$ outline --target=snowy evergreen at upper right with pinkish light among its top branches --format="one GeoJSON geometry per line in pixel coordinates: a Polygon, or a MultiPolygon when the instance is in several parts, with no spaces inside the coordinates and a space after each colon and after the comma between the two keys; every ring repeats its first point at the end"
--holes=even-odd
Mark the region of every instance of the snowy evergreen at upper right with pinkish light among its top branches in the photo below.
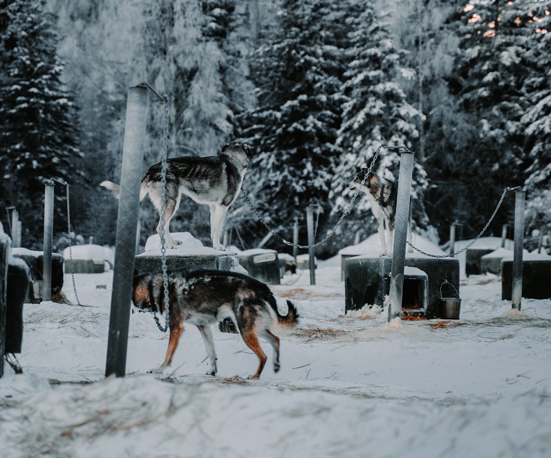
{"type": "MultiPolygon", "coordinates": [[[[456,198],[468,207],[473,235],[485,225],[503,188],[523,184],[530,166],[525,155],[528,120],[523,115],[536,101],[525,88],[534,77],[543,77],[541,63],[531,55],[537,35],[534,16],[545,17],[548,3],[465,2],[456,18],[463,52],[450,86],[477,133],[462,154],[465,166],[458,173],[464,184],[456,198]]],[[[512,199],[504,202],[494,220],[496,229],[507,221],[512,204],[512,199]]]]}

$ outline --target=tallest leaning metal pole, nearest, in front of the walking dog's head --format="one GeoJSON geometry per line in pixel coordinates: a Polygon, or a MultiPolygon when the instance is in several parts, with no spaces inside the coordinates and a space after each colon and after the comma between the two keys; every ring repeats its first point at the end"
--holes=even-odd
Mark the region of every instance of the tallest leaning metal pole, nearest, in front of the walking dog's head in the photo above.
{"type": "Polygon", "coordinates": [[[128,328],[146,119],[147,88],[145,86],[129,88],[122,146],[122,171],[105,376],[115,374],[122,377],[127,365],[128,328]]]}

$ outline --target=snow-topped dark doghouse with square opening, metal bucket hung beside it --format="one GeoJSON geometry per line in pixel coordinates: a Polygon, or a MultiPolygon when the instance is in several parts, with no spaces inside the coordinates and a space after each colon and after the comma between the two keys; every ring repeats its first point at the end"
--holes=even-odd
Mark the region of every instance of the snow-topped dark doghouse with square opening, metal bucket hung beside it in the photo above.
{"type": "MultiPolygon", "coordinates": [[[[380,256],[377,234],[359,245],[339,251],[344,256],[345,310],[382,307],[390,291],[392,258],[380,256]],[[352,256],[352,255],[356,256],[352,256]],[[359,255],[359,256],[358,256],[359,255]]],[[[445,255],[438,246],[415,236],[413,245],[437,256],[445,255]]],[[[402,309],[412,315],[439,318],[440,287],[447,280],[459,291],[459,260],[431,258],[416,251],[407,253],[404,267],[402,309]]]]}

